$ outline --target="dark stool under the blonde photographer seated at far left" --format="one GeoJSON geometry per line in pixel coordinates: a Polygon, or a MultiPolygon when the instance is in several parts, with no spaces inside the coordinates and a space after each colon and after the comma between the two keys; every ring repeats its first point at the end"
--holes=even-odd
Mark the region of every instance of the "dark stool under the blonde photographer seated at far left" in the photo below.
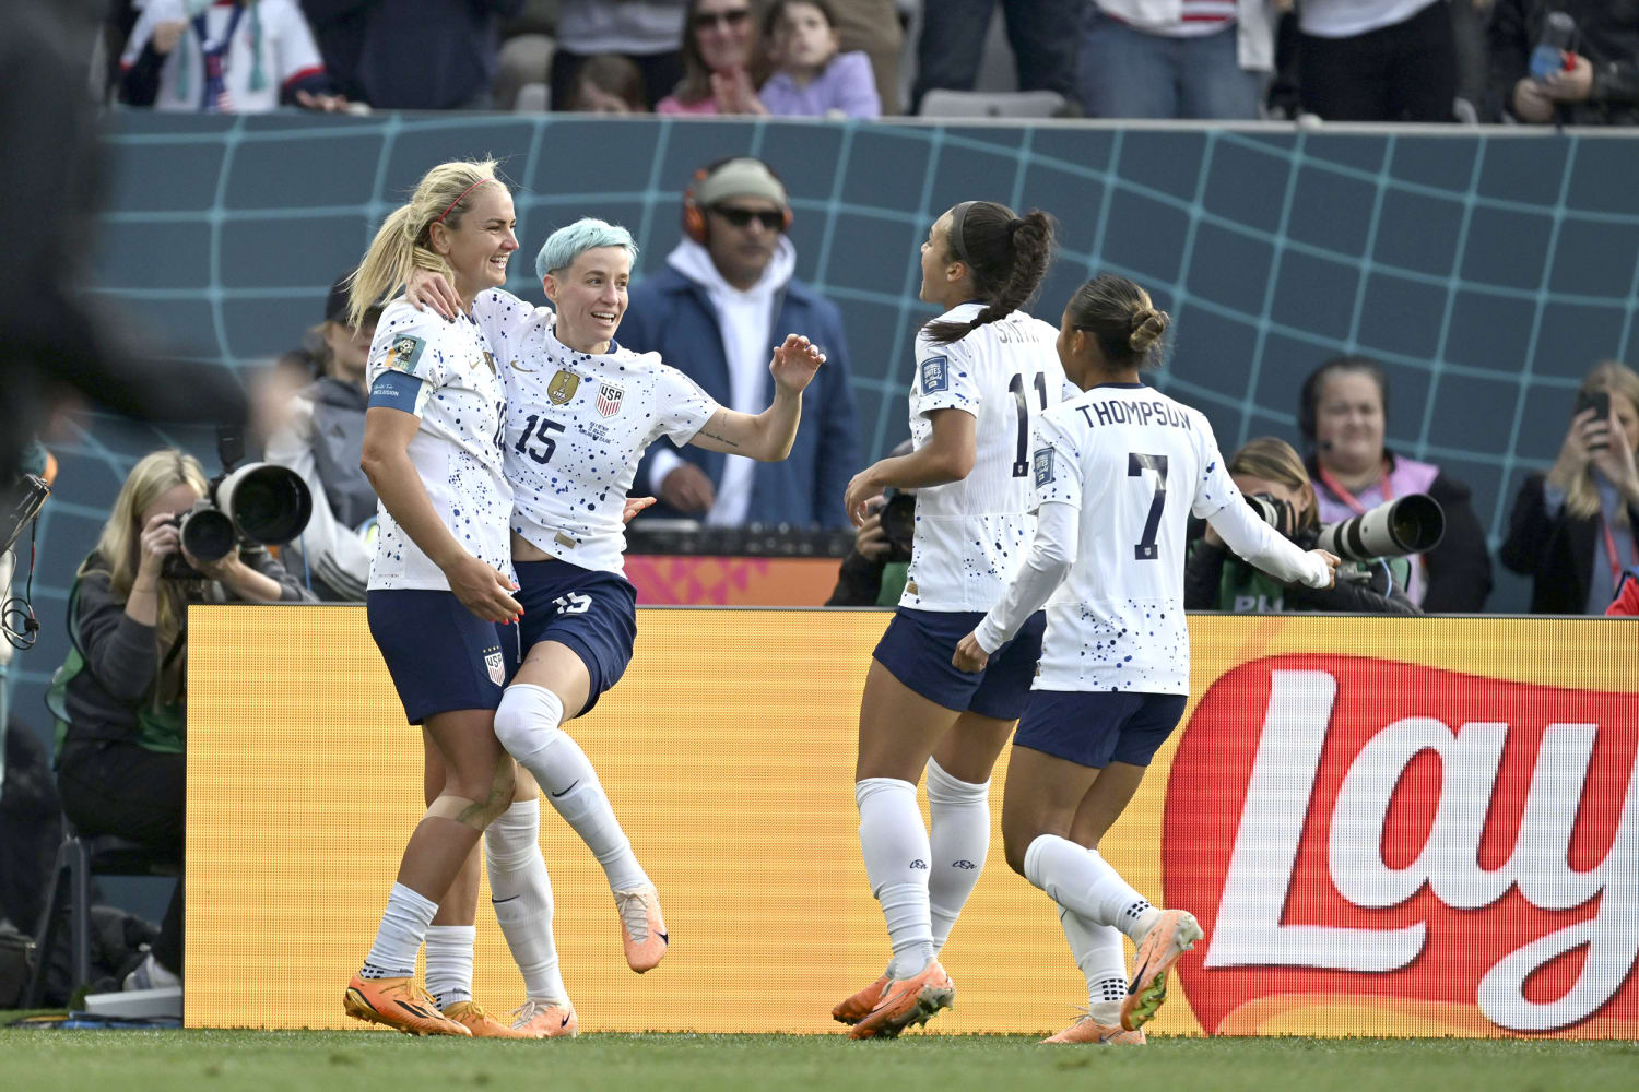
{"type": "Polygon", "coordinates": [[[57,940],[57,922],[64,902],[69,909],[69,928],[74,951],[74,982],[69,994],[79,992],[92,977],[92,876],[182,876],[182,856],[154,850],[115,835],[82,838],[67,819],[62,820],[64,838],[57,846],[57,863],[51,873],[46,894],[46,910],[41,914],[34,971],[28,981],[25,1009],[38,1009],[46,989],[46,972],[57,940]]]}

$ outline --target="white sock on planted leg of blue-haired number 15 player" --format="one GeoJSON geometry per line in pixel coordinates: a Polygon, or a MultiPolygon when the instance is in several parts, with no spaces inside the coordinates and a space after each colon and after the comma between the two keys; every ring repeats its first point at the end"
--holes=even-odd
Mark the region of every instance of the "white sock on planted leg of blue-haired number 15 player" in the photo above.
{"type": "Polygon", "coordinates": [[[524,995],[569,1002],[552,940],[552,881],[541,856],[541,801],[513,801],[484,832],[484,866],[490,902],[513,961],[523,972],[524,995]]]}

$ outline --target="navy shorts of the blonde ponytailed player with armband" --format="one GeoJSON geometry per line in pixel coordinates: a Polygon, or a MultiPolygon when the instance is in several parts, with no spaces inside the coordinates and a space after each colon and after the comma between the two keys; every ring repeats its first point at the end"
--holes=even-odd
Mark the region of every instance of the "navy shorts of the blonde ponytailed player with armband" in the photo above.
{"type": "Polygon", "coordinates": [[[506,658],[493,622],[452,591],[370,589],[364,596],[370,637],[382,650],[410,724],[454,709],[495,709],[506,684],[506,658]]]}

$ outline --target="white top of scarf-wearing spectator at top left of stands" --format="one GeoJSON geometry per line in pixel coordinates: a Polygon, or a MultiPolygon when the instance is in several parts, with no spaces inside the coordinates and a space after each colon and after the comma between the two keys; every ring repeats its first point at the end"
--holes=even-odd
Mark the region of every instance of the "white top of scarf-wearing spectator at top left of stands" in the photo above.
{"type": "Polygon", "coordinates": [[[288,85],[325,70],[313,33],[295,0],[257,0],[239,7],[218,0],[198,20],[188,20],[184,0],[151,0],[126,39],[120,64],[129,69],[143,56],[159,23],[187,23],[179,43],[159,70],[156,110],[262,113],[279,108],[288,85]],[[205,26],[205,36],[198,25],[205,26]],[[226,38],[226,49],[221,51],[226,38]],[[223,97],[207,98],[207,54],[221,67],[223,97]],[[257,79],[259,77],[259,79],[257,79]],[[259,87],[252,87],[259,83],[259,87]]]}

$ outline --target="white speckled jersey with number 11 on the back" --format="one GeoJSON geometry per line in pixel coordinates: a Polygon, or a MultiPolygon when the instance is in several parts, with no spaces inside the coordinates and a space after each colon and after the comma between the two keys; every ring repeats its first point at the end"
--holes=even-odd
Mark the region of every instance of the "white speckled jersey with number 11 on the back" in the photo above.
{"type": "MultiPolygon", "coordinates": [[[[970,321],[964,303],[939,316],[970,321]]],[[[974,470],[960,481],[916,491],[916,535],[901,607],[985,611],[1036,530],[1031,509],[1031,422],[1064,398],[1059,331],[1023,311],[939,345],[916,337],[911,440],[933,439],[934,409],[977,417],[974,470]]]]}

